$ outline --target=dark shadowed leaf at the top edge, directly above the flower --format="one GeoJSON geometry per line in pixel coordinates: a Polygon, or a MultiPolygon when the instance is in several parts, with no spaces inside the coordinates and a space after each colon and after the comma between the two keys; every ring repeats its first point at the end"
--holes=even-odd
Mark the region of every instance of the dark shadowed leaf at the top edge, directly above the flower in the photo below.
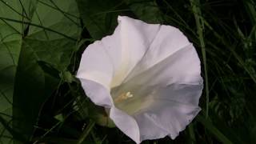
{"type": "Polygon", "coordinates": [[[78,9],[86,29],[94,39],[113,33],[118,15],[130,15],[130,9],[121,0],[77,0],[78,9]]]}

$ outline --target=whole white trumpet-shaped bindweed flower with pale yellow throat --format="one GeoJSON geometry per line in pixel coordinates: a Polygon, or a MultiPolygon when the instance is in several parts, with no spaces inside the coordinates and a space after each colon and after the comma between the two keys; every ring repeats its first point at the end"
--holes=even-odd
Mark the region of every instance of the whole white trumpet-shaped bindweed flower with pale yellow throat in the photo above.
{"type": "Polygon", "coordinates": [[[82,54],[77,78],[134,142],[176,138],[201,110],[200,60],[173,26],[118,17],[114,34],[82,54]]]}

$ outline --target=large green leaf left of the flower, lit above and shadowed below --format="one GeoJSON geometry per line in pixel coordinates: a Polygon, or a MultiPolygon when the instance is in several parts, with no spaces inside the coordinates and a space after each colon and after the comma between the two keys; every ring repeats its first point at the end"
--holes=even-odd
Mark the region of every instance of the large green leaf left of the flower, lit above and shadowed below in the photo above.
{"type": "Polygon", "coordinates": [[[14,89],[14,116],[18,118],[15,126],[27,138],[33,134],[43,103],[60,81],[47,74],[38,62],[46,62],[58,71],[66,70],[75,49],[72,38],[80,34],[78,22],[74,0],[38,1],[31,20],[34,25],[23,39],[14,89]]]}

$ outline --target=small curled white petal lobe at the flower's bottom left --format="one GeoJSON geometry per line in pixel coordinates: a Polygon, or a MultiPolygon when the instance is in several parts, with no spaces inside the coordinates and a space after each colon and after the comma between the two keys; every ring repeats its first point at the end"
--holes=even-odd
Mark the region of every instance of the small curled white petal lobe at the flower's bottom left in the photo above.
{"type": "Polygon", "coordinates": [[[138,124],[133,117],[113,106],[110,109],[110,118],[114,121],[114,124],[118,126],[118,128],[122,130],[124,134],[134,140],[134,142],[141,142],[138,124]]]}

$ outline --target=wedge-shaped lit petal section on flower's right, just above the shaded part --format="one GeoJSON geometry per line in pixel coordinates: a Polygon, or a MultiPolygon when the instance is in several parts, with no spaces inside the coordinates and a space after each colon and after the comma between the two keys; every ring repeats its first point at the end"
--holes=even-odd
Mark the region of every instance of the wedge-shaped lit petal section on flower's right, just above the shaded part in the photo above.
{"type": "Polygon", "coordinates": [[[170,84],[191,84],[202,83],[201,68],[198,54],[194,46],[186,46],[161,62],[158,62],[142,74],[130,78],[122,89],[132,90],[140,86],[142,90],[153,86],[155,88],[165,87],[170,84]]]}

